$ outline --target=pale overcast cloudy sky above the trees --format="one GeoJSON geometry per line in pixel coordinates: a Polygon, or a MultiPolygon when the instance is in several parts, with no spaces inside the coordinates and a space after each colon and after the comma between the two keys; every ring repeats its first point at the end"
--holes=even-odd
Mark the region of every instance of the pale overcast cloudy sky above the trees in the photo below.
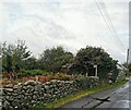
{"type": "Polygon", "coordinates": [[[129,40],[128,0],[98,2],[118,36],[110,33],[95,0],[76,1],[1,2],[0,40],[15,42],[23,39],[36,57],[52,46],[61,45],[73,53],[87,45],[97,46],[124,62],[129,40]]]}

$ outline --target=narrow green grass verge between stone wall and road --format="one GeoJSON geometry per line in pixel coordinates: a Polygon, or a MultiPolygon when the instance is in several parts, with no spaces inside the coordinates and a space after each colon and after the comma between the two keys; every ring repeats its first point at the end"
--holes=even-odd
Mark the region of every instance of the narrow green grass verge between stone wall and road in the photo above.
{"type": "Polygon", "coordinates": [[[94,94],[94,93],[97,93],[97,91],[100,91],[100,90],[104,90],[104,89],[107,89],[107,88],[123,85],[127,82],[128,81],[124,80],[122,82],[115,83],[114,85],[100,85],[100,86],[97,86],[96,88],[92,88],[92,89],[88,89],[88,90],[81,90],[81,91],[78,91],[78,93],[75,93],[73,95],[68,95],[66,97],[62,97],[62,98],[57,99],[57,100],[51,101],[51,102],[38,103],[35,107],[33,107],[32,110],[45,110],[46,108],[48,108],[49,110],[52,110],[55,108],[59,108],[59,107],[61,107],[61,106],[63,106],[63,105],[66,105],[68,102],[80,99],[80,98],[85,97],[87,95],[91,95],[91,94],[94,94]]]}

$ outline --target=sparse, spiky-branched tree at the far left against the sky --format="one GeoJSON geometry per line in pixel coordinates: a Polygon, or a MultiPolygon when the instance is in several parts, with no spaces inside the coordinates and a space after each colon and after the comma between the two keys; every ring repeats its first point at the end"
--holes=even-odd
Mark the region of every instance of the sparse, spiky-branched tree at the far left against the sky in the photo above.
{"type": "Polygon", "coordinates": [[[31,51],[27,50],[25,41],[17,40],[16,45],[2,44],[2,68],[5,72],[17,72],[24,66],[24,60],[27,60],[31,51]]]}

